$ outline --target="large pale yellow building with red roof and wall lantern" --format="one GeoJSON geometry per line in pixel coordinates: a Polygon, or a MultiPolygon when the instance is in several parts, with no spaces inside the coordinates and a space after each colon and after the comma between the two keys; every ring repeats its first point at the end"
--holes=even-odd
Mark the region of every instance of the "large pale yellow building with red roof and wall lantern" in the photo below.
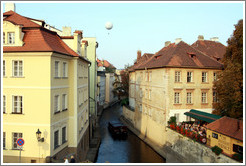
{"type": "MultiPolygon", "coordinates": [[[[71,154],[81,161],[89,148],[90,62],[44,25],[3,14],[3,162],[19,162],[18,138],[25,163],[62,162],[71,154]]],[[[75,31],[74,40],[81,38],[75,31]]]]}

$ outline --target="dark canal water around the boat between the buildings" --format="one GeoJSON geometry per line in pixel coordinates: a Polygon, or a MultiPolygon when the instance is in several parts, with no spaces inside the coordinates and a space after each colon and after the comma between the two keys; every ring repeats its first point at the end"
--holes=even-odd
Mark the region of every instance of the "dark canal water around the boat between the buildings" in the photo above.
{"type": "Polygon", "coordinates": [[[120,121],[122,106],[115,104],[103,111],[100,119],[101,145],[97,163],[164,163],[165,159],[129,131],[126,140],[114,140],[107,125],[109,121],[120,121]]]}

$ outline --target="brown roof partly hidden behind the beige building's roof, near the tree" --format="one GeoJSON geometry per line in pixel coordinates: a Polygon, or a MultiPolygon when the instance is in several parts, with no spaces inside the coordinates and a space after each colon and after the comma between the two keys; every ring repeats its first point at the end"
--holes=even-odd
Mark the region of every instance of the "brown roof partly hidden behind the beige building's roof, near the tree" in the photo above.
{"type": "Polygon", "coordinates": [[[221,61],[226,53],[226,46],[211,40],[197,40],[191,46],[219,61],[221,61]]]}

